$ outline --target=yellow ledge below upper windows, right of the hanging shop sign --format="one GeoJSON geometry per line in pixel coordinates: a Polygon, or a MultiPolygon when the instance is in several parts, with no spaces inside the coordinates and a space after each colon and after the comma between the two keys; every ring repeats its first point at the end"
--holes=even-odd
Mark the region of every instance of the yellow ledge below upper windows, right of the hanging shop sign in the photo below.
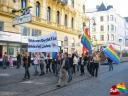
{"type": "Polygon", "coordinates": [[[76,35],[80,34],[80,30],[75,30],[75,29],[66,27],[64,25],[57,24],[55,22],[44,20],[44,19],[36,17],[36,16],[32,17],[32,22],[31,23],[36,24],[38,26],[43,26],[43,27],[46,27],[46,28],[51,28],[51,29],[54,29],[54,30],[66,32],[66,33],[69,33],[69,34],[76,34],[76,35]]]}

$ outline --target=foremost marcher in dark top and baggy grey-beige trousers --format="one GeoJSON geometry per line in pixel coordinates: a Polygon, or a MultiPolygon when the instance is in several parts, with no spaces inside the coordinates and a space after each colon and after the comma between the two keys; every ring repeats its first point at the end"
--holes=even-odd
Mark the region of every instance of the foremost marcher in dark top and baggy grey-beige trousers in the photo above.
{"type": "Polygon", "coordinates": [[[64,54],[64,59],[63,59],[63,62],[62,62],[61,68],[60,68],[60,74],[59,74],[59,80],[58,80],[57,87],[61,87],[61,86],[67,85],[68,63],[69,63],[68,53],[65,53],[64,54]]]}

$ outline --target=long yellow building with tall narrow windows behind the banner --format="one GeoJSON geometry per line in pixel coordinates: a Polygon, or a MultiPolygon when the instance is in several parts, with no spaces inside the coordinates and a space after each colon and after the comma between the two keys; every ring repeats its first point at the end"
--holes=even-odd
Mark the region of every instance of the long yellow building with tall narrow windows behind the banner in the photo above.
{"type": "Polygon", "coordinates": [[[80,52],[85,20],[85,0],[0,0],[0,58],[4,52],[15,57],[17,51],[27,49],[28,37],[50,32],[57,33],[60,50],[80,52]],[[14,22],[27,12],[31,22],[14,22]]]}

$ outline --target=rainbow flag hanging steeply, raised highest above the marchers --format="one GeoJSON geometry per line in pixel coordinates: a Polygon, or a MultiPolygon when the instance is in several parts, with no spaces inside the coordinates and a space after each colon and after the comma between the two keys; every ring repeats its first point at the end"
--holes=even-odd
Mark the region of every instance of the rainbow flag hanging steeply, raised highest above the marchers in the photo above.
{"type": "Polygon", "coordinates": [[[81,43],[89,51],[89,54],[92,54],[91,39],[89,36],[88,28],[84,28],[84,33],[81,37],[81,43]]]}

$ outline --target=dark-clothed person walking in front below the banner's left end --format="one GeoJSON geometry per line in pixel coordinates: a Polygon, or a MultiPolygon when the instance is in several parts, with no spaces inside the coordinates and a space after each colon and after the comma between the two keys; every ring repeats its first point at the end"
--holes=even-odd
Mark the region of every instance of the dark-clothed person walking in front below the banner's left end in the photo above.
{"type": "Polygon", "coordinates": [[[27,53],[23,56],[23,67],[25,69],[25,74],[23,80],[30,79],[29,67],[31,63],[31,58],[28,56],[27,53]]]}

